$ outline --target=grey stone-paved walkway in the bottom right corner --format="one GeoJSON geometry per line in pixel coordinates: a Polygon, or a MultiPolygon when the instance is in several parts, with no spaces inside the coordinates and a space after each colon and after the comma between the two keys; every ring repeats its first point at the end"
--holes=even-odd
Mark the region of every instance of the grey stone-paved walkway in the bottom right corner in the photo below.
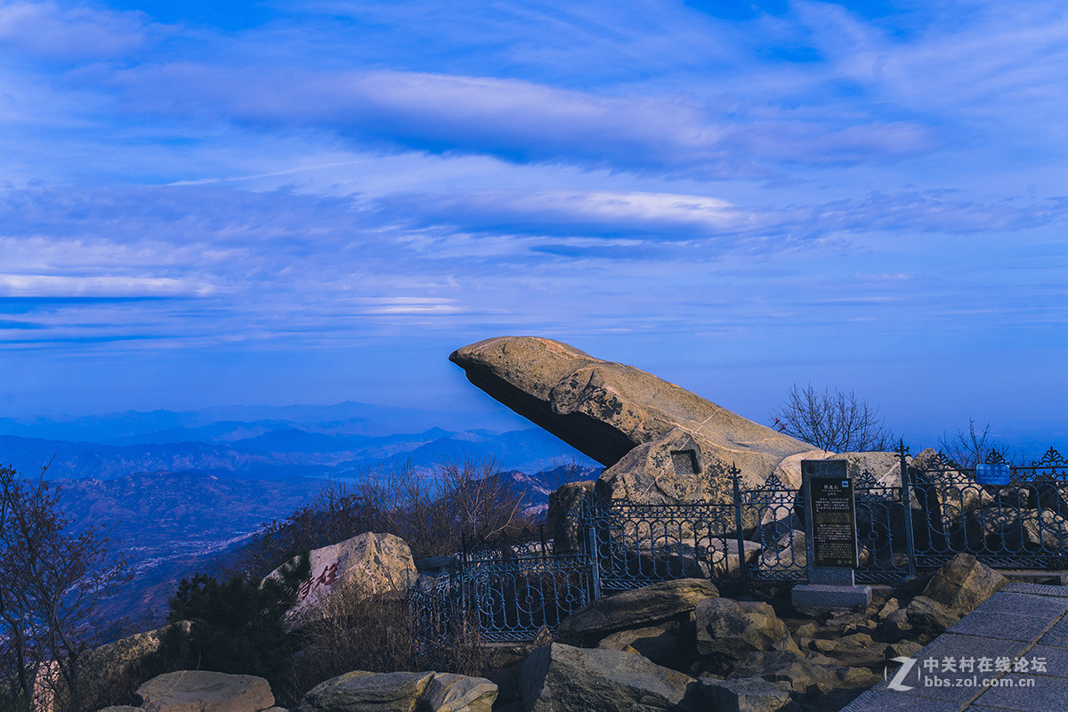
{"type": "Polygon", "coordinates": [[[1068,711],[1066,613],[1068,586],[1008,584],[842,712],[1068,711]]]}

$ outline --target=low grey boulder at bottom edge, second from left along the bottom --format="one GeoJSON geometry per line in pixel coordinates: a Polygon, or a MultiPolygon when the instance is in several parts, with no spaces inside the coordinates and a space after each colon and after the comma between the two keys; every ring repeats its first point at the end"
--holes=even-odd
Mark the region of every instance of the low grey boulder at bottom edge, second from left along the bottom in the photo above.
{"type": "Polygon", "coordinates": [[[434,677],[354,670],[312,687],[297,712],[414,712],[434,677]]]}

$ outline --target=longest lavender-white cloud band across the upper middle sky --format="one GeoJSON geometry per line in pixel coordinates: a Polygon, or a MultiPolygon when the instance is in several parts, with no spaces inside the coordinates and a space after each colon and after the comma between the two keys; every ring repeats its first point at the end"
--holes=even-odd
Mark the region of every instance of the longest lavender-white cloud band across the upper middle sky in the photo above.
{"type": "Polygon", "coordinates": [[[493,77],[219,72],[187,63],[130,70],[123,83],[142,111],[329,129],[404,149],[705,177],[767,176],[780,161],[881,160],[932,143],[925,127],[908,121],[726,121],[714,106],[493,77]]]}

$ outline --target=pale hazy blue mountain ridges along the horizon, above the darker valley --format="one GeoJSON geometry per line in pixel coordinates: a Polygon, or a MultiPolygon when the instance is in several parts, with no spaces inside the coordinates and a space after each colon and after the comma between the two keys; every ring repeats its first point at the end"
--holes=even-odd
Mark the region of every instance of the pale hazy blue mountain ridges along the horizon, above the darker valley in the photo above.
{"type": "Polygon", "coordinates": [[[64,421],[0,418],[0,463],[22,474],[36,474],[48,464],[47,476],[63,479],[184,471],[247,479],[350,477],[405,460],[425,468],[441,458],[464,457],[493,458],[502,469],[523,472],[548,470],[562,461],[595,464],[540,428],[498,432],[444,430],[433,424],[422,430],[404,427],[427,425],[435,415],[445,417],[341,404],[128,412],[64,421]],[[235,420],[241,412],[257,417],[235,420]],[[211,420],[216,414],[227,420],[211,420]],[[398,429],[390,431],[394,424],[398,429]]]}

